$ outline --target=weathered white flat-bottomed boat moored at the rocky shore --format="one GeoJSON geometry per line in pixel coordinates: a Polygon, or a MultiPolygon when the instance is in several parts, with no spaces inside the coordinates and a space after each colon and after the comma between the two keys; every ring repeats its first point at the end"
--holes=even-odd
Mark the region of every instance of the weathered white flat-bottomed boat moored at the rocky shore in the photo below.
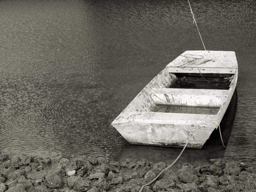
{"type": "Polygon", "coordinates": [[[237,77],[235,52],[187,50],[137,94],[112,126],[130,144],[201,149],[219,127],[237,77]]]}

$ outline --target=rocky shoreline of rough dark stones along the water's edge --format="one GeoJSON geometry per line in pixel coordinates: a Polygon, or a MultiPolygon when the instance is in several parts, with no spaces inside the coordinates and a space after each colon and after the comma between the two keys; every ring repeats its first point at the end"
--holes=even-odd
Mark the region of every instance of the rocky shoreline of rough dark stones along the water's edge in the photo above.
{"type": "MultiPolygon", "coordinates": [[[[0,153],[0,192],[135,192],[167,166],[146,160],[108,162],[85,156],[43,159],[27,155],[9,158],[0,153]]],[[[176,172],[166,170],[143,191],[256,191],[256,169],[224,159],[204,165],[185,163],[176,172]]]]}

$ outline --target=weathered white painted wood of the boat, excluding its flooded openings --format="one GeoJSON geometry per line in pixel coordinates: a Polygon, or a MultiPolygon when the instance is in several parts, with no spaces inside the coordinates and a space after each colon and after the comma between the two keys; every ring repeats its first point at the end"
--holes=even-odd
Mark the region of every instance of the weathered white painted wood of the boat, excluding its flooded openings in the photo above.
{"type": "Polygon", "coordinates": [[[218,128],[236,88],[238,69],[235,52],[187,51],[181,55],[155,76],[112,122],[129,143],[181,147],[186,143],[188,132],[193,131],[188,147],[202,148],[213,130],[218,128]],[[198,68],[202,71],[209,69],[207,73],[233,74],[230,88],[168,88],[176,78],[172,70],[202,72],[198,68]],[[153,112],[156,104],[218,106],[219,111],[216,115],[153,112]]]}

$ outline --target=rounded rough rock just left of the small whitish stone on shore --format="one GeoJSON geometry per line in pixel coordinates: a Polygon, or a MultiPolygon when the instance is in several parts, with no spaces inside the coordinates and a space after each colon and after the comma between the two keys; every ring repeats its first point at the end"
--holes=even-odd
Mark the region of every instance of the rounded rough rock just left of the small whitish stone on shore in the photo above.
{"type": "Polygon", "coordinates": [[[49,171],[43,182],[48,188],[61,188],[62,187],[62,174],[60,171],[49,171]]]}

